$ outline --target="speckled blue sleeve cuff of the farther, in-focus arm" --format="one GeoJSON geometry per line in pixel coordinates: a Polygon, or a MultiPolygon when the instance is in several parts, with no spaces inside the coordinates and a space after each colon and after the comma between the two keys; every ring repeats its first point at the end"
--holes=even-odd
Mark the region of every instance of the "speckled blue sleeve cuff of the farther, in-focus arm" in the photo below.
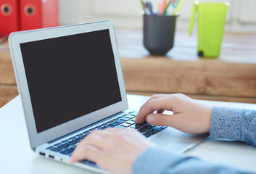
{"type": "Polygon", "coordinates": [[[210,137],[256,146],[256,110],[212,107],[210,137]]]}

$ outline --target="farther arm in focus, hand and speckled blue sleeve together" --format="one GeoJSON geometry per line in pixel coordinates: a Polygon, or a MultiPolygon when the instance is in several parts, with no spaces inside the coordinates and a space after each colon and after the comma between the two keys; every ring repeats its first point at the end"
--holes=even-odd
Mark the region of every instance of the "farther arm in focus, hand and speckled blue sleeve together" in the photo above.
{"type": "Polygon", "coordinates": [[[186,133],[210,132],[212,138],[239,140],[256,146],[256,110],[210,108],[183,94],[154,95],[136,116],[136,123],[144,120],[186,133]],[[172,111],[173,115],[163,114],[165,110],[172,111]]]}

